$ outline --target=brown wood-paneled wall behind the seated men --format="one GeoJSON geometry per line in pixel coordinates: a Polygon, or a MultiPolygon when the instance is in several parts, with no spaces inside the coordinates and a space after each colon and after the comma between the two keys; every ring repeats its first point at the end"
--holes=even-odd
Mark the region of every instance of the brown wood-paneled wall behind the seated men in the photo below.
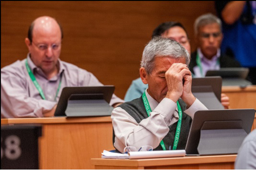
{"type": "Polygon", "coordinates": [[[115,94],[123,98],[139,77],[142,51],[154,28],[166,21],[183,23],[194,50],[194,20],[208,12],[216,14],[213,1],[1,1],[1,68],[26,57],[30,23],[52,16],[63,26],[61,60],[92,72],[105,85],[115,85],[115,94]]]}

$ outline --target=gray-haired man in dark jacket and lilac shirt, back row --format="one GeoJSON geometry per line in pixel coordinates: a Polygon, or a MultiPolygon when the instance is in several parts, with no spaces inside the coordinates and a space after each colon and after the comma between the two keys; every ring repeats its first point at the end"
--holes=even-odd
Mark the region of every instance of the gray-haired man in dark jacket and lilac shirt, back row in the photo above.
{"type": "Polygon", "coordinates": [[[191,54],[189,68],[195,77],[204,77],[208,70],[240,67],[239,62],[220,51],[223,34],[221,21],[217,16],[213,14],[199,16],[194,22],[194,34],[198,48],[191,54]]]}

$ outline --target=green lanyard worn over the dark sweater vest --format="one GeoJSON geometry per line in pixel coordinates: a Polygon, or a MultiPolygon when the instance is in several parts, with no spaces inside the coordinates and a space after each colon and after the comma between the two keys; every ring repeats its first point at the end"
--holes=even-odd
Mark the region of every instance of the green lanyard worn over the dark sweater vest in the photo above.
{"type": "MultiPolygon", "coordinates": [[[[149,116],[149,113],[152,112],[152,110],[149,106],[149,101],[147,100],[147,96],[146,96],[145,92],[142,94],[142,99],[143,99],[145,109],[147,111],[147,115],[149,116]]],[[[182,120],[182,111],[181,111],[180,104],[178,101],[177,101],[177,106],[178,106],[179,120],[178,120],[178,124],[176,127],[176,133],[175,133],[175,138],[174,138],[174,142],[173,142],[173,150],[177,149],[177,145],[178,145],[179,138],[180,138],[180,127],[181,127],[181,120],[182,120]]],[[[163,150],[166,150],[163,140],[161,140],[160,145],[163,148],[163,150]]]]}

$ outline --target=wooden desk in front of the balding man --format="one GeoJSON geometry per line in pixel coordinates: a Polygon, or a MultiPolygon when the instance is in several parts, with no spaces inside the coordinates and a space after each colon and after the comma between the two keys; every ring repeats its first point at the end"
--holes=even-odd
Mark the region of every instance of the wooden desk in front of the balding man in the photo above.
{"type": "Polygon", "coordinates": [[[90,159],[114,149],[110,117],[1,119],[3,124],[42,124],[40,169],[93,169],[90,159]]]}

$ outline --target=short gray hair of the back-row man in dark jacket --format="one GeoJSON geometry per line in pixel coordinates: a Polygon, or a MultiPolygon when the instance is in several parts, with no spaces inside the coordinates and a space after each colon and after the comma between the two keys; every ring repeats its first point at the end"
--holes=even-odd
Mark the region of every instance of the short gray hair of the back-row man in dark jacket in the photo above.
{"type": "Polygon", "coordinates": [[[208,14],[201,15],[196,19],[196,21],[194,22],[194,34],[195,35],[198,34],[198,30],[200,27],[208,24],[212,24],[212,23],[217,23],[220,26],[220,31],[222,32],[220,18],[218,18],[217,16],[211,13],[208,13],[208,14]]]}

